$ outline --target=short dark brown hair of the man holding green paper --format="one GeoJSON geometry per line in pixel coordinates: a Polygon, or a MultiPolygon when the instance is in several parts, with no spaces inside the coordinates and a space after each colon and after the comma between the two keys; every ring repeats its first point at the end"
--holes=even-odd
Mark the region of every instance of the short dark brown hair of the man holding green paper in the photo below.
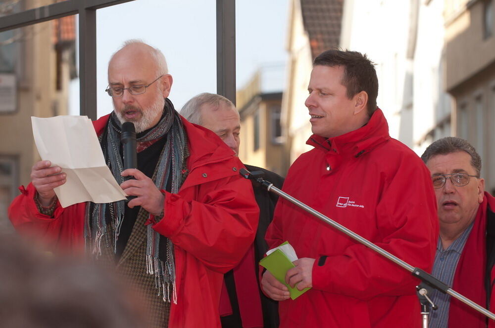
{"type": "Polygon", "coordinates": [[[316,65],[344,67],[341,83],[347,88],[347,98],[351,99],[355,94],[365,91],[368,94],[368,115],[371,117],[377,108],[378,78],[375,64],[366,54],[349,50],[327,50],[314,59],[313,67],[316,65]]]}

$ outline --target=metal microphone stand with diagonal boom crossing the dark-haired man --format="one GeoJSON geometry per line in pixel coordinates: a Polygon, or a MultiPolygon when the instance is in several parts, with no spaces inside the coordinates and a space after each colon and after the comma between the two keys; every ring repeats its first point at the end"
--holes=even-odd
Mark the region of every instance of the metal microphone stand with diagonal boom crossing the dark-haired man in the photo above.
{"type": "Polygon", "coordinates": [[[404,268],[405,270],[409,271],[414,277],[420,279],[423,283],[420,284],[419,286],[416,287],[417,289],[417,294],[420,299],[421,303],[421,315],[423,316],[423,327],[427,328],[428,327],[428,315],[429,315],[429,306],[430,304],[433,306],[433,309],[436,309],[436,305],[431,302],[431,300],[428,298],[427,293],[428,293],[428,287],[433,287],[444,294],[449,294],[450,296],[458,299],[459,301],[463,302],[464,304],[470,306],[471,308],[475,309],[476,311],[484,314],[488,318],[495,320],[495,314],[492,312],[488,311],[484,307],[476,304],[475,302],[471,301],[469,298],[462,296],[458,292],[452,290],[449,286],[438,280],[437,278],[433,277],[426,271],[420,269],[420,268],[415,268],[412,265],[402,261],[395,255],[392,255],[385,249],[376,246],[375,244],[371,243],[367,239],[364,239],[363,237],[359,236],[358,234],[354,233],[353,231],[347,229],[343,225],[335,222],[334,220],[330,219],[329,217],[323,215],[322,213],[316,211],[315,209],[309,207],[308,205],[305,205],[302,202],[299,202],[297,199],[294,197],[290,196],[289,194],[286,194],[282,190],[278,189],[277,187],[274,187],[273,184],[269,181],[266,181],[263,179],[264,173],[263,171],[253,171],[249,172],[245,168],[241,168],[239,173],[246,179],[250,179],[253,181],[256,181],[257,183],[261,184],[263,187],[265,187],[269,192],[272,192],[274,194],[279,195],[280,197],[284,198],[285,200],[291,202],[292,204],[302,208],[309,214],[319,218],[320,220],[328,223],[335,229],[339,230],[340,232],[346,234],[350,238],[354,239],[355,241],[363,244],[364,246],[367,246],[371,249],[373,249],[375,252],[379,253],[380,255],[388,258],[392,262],[396,263],[398,266],[404,268]],[[426,286],[425,286],[426,285],[426,286]]]}

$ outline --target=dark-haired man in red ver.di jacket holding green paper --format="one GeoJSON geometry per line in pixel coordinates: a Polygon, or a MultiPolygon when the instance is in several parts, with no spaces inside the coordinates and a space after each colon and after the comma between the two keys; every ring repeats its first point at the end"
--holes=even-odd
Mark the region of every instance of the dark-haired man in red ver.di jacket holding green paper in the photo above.
{"type": "MultiPolygon", "coordinates": [[[[377,108],[373,64],[329,50],[313,62],[305,105],[313,150],[291,166],[284,191],[409,264],[430,270],[438,234],[426,166],[392,139],[377,108]]],[[[297,299],[266,271],[262,287],[279,300],[280,327],[420,327],[410,272],[280,200],[266,240],[288,241],[299,259],[285,277],[311,287],[297,299]]]]}

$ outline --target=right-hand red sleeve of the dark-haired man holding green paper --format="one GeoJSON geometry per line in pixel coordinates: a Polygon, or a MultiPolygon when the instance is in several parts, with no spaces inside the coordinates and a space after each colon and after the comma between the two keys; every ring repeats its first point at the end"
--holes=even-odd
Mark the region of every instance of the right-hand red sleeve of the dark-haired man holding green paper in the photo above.
{"type": "MultiPolygon", "coordinates": [[[[374,244],[430,272],[438,238],[437,207],[429,172],[419,164],[398,170],[385,187],[376,206],[380,235],[374,244]]],[[[359,299],[414,294],[418,283],[410,272],[357,242],[342,255],[328,256],[323,265],[318,262],[313,265],[313,288],[359,299]]]]}

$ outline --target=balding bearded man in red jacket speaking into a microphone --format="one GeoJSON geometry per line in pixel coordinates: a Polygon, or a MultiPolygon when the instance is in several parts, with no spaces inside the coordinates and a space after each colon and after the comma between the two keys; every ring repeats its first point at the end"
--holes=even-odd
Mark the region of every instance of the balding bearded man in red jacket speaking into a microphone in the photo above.
{"type": "MultiPolygon", "coordinates": [[[[252,244],[258,208],[243,164],[214,133],[174,110],[163,54],[127,41],[108,65],[114,111],[94,123],[107,165],[128,203],[62,208],[65,173],[49,161],[9,208],[18,231],[52,248],[84,248],[141,290],[152,327],[219,327],[223,273],[252,244]],[[137,132],[135,169],[122,170],[122,123],[137,132]],[[132,176],[134,179],[126,179],[132,176]]],[[[74,295],[77,297],[77,295],[74,295]]]]}

